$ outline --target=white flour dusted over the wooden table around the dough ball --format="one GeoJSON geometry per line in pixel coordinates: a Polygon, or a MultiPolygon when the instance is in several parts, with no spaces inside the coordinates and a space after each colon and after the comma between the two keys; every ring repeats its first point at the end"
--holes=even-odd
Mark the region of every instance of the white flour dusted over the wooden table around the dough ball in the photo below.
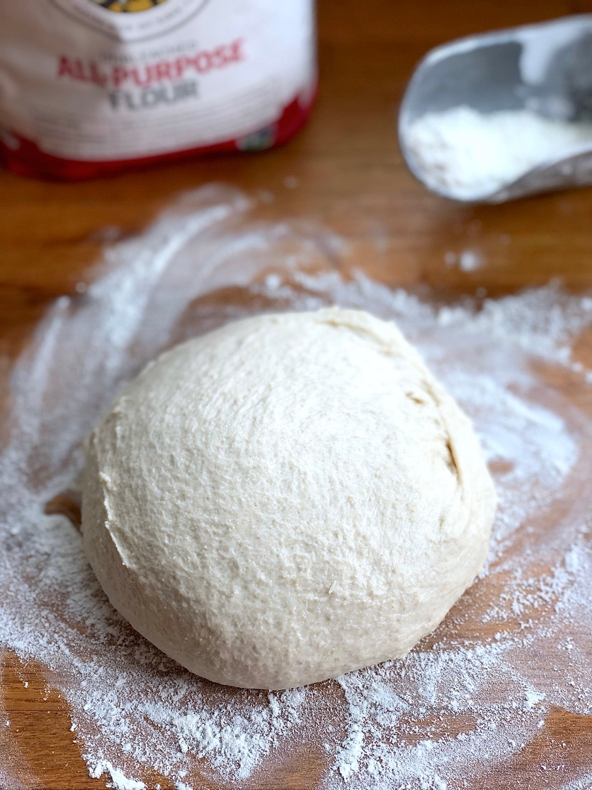
{"type": "MultiPolygon", "coordinates": [[[[0,644],[46,668],[90,775],[117,790],[155,788],[159,776],[197,790],[256,772],[257,786],[280,786],[301,744],[324,761],[321,790],[489,786],[545,734],[549,710],[592,714],[592,429],[576,405],[590,402],[590,371],[571,352],[592,325],[592,299],[551,284],[481,308],[438,306],[344,274],[335,235],[256,224],[248,208],[242,194],[209,187],[114,243],[6,378],[0,644]],[[473,417],[500,495],[488,564],[404,660],[282,693],[219,687],[122,621],[75,527],[43,510],[64,491],[76,502],[81,438],[163,346],[247,314],[328,303],[397,321],[473,417]],[[569,401],[553,386],[557,366],[571,376],[569,401]]],[[[6,790],[27,770],[11,728],[0,732],[6,790]]],[[[553,749],[544,787],[589,787],[592,766],[575,759],[570,772],[569,750],[553,749]]]]}

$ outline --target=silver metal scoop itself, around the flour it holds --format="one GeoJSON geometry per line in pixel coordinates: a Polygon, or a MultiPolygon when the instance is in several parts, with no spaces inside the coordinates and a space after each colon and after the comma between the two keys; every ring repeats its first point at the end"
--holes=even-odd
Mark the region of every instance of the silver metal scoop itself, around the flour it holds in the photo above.
{"type": "Polygon", "coordinates": [[[466,105],[481,113],[527,108],[551,118],[592,121],[592,14],[469,36],[436,47],[419,63],[399,112],[407,166],[428,189],[466,203],[500,203],[592,183],[592,142],[541,162],[476,200],[429,182],[407,145],[416,119],[466,105]]]}

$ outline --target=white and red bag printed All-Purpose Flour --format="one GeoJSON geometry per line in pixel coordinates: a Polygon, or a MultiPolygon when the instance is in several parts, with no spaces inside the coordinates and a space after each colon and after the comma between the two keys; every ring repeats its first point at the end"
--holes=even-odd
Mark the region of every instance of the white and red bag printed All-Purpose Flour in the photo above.
{"type": "Polygon", "coordinates": [[[271,148],[316,84],[313,0],[0,3],[0,149],[21,175],[271,148]]]}

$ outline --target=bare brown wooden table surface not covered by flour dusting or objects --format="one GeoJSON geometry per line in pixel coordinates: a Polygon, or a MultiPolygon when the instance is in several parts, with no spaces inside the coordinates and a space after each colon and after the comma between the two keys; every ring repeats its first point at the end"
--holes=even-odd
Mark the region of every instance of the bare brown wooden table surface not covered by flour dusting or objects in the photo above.
{"type": "MultiPolygon", "coordinates": [[[[51,300],[73,293],[99,253],[97,231],[114,225],[125,233],[140,230],[175,193],[212,181],[271,190],[268,216],[320,220],[351,239],[360,265],[380,268],[392,284],[430,284],[443,295],[474,294],[478,287],[499,295],[556,276],[568,288],[592,286],[592,188],[508,205],[454,205],[411,178],[395,136],[403,89],[429,47],[586,11],[592,12],[592,0],[321,0],[318,104],[302,134],[283,149],[80,184],[0,175],[0,351],[16,355],[51,300]],[[287,186],[293,183],[298,186],[287,186]],[[386,242],[380,255],[378,237],[386,242]],[[475,245],[485,261],[477,271],[445,265],[446,250],[475,245]]],[[[35,777],[30,786],[104,787],[104,779],[88,777],[66,704],[56,692],[47,694],[35,668],[27,669],[25,688],[16,663],[5,656],[2,692],[11,734],[35,777]]],[[[574,766],[592,766],[592,720],[556,712],[530,751],[487,787],[534,787],[535,766],[553,737],[568,743],[574,766]]],[[[313,788],[318,770],[297,761],[285,766],[278,784],[265,787],[313,788]]]]}

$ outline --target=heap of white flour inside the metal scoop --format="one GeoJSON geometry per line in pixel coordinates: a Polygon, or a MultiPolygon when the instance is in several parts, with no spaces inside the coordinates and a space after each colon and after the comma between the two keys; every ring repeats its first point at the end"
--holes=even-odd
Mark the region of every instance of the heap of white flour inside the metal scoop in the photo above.
{"type": "Polygon", "coordinates": [[[592,143],[592,124],[555,120],[530,110],[482,114],[453,107],[410,124],[405,143],[433,190],[478,200],[532,167],[592,143]]]}

